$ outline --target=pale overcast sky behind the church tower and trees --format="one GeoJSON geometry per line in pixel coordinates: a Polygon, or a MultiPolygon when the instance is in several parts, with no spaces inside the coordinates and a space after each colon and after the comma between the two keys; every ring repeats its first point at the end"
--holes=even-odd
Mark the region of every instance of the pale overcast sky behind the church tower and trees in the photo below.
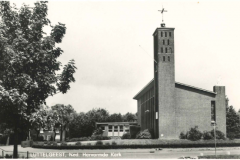
{"type": "MultiPolygon", "coordinates": [[[[17,2],[20,3],[20,2],[17,2]]],[[[25,1],[29,4],[29,1],[25,1]]],[[[240,2],[90,0],[50,1],[52,24],[66,24],[59,45],[62,64],[74,59],[76,82],[47,105],[72,105],[77,112],[104,108],[137,112],[133,97],[153,79],[153,37],[175,28],[175,81],[213,90],[226,87],[229,105],[240,109],[240,2]]]]}

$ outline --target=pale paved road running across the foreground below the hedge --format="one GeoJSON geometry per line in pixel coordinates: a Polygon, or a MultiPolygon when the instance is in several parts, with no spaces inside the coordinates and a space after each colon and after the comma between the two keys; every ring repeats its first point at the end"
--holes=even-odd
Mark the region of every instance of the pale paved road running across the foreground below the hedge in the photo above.
{"type": "MultiPolygon", "coordinates": [[[[1,149],[12,151],[13,146],[0,146],[1,149]]],[[[178,148],[178,149],[111,149],[111,150],[56,150],[18,147],[19,152],[30,152],[31,157],[38,158],[135,158],[135,159],[177,159],[180,157],[197,157],[214,155],[214,148],[178,148]]],[[[12,153],[12,152],[11,152],[12,153]]],[[[0,153],[1,155],[2,153],[0,153]]],[[[5,153],[6,154],[6,153],[5,153]]],[[[8,153],[10,154],[10,153],[8,153]]],[[[20,153],[22,155],[26,153],[20,153]]],[[[217,148],[217,155],[238,154],[240,147],[217,148]]]]}

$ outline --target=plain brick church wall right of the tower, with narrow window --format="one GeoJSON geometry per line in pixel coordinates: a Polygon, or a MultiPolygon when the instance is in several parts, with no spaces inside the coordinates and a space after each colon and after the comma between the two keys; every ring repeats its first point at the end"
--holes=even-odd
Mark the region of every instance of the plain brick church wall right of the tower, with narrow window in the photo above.
{"type": "Polygon", "coordinates": [[[222,89],[222,94],[214,95],[176,86],[175,96],[177,136],[182,131],[186,133],[194,126],[198,126],[202,132],[213,129],[211,126],[211,101],[216,103],[217,129],[226,135],[225,90],[222,89]]]}

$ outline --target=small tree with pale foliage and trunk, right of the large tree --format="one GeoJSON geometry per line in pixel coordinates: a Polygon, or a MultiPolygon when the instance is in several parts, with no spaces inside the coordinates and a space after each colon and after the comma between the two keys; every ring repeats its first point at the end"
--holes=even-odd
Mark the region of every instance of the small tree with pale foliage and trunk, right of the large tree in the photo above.
{"type": "Polygon", "coordinates": [[[68,130],[68,126],[70,122],[73,120],[73,115],[76,114],[76,111],[73,109],[71,105],[63,105],[56,104],[51,107],[52,108],[52,117],[55,120],[54,127],[60,128],[60,141],[65,139],[66,130],[68,130]],[[64,136],[64,138],[63,138],[64,136]]]}

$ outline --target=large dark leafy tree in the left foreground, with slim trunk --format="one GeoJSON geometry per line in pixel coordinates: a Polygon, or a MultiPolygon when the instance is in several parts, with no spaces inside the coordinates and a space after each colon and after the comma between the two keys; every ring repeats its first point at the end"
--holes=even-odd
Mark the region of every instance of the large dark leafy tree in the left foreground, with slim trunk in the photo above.
{"type": "Polygon", "coordinates": [[[17,158],[18,133],[28,130],[29,119],[49,96],[66,93],[75,79],[74,60],[61,74],[57,58],[63,50],[56,47],[66,33],[66,26],[52,26],[47,18],[47,2],[20,9],[0,1],[0,121],[14,130],[14,158],[17,158]],[[50,26],[51,33],[43,32],[50,26]]]}

